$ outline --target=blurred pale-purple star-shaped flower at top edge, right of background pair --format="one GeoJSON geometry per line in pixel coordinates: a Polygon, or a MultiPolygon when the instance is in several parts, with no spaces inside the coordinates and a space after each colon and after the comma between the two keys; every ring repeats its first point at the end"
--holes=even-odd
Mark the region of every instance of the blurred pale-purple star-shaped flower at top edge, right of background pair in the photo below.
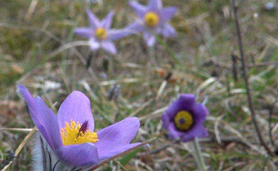
{"type": "Polygon", "coordinates": [[[139,17],[139,21],[131,23],[127,28],[143,32],[144,41],[148,46],[153,46],[156,41],[151,32],[165,37],[176,36],[176,30],[167,22],[175,15],[176,7],[162,8],[161,0],[150,0],[147,7],[136,1],[130,1],[129,4],[139,17]]]}

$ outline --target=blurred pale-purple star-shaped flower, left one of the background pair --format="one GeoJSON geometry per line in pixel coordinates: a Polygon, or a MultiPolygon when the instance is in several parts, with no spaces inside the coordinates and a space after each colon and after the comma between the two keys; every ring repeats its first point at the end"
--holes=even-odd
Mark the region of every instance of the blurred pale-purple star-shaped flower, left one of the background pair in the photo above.
{"type": "Polygon", "coordinates": [[[90,27],[78,27],[75,29],[75,33],[79,36],[89,38],[91,50],[94,51],[102,47],[108,53],[115,55],[117,50],[112,41],[119,40],[127,36],[130,32],[123,29],[110,29],[113,12],[108,13],[102,21],[99,21],[89,9],[86,12],[90,27]]]}

